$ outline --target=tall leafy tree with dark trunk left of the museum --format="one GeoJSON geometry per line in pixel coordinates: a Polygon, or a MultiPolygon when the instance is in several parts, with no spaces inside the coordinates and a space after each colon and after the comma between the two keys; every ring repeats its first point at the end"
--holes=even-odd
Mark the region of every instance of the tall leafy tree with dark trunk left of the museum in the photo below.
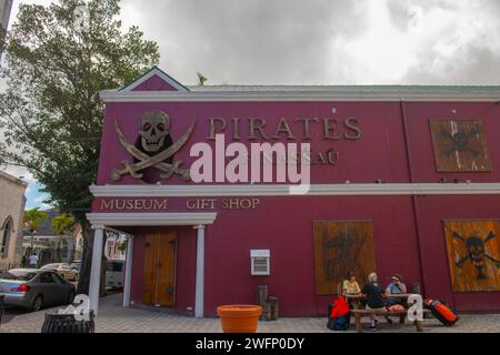
{"type": "Polygon", "coordinates": [[[158,64],[158,45],[137,27],[122,30],[119,0],[21,4],[7,36],[0,75],[0,163],[26,166],[49,203],[82,226],[79,293],[88,293],[93,233],[86,219],[96,182],[103,103],[158,64]],[[2,133],[0,133],[2,134],[2,133]]]}

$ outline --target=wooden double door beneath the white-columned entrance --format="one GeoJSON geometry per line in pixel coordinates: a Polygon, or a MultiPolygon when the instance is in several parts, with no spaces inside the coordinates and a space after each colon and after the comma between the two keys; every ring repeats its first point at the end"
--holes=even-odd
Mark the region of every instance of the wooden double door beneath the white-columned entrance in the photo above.
{"type": "Polygon", "coordinates": [[[174,306],[177,242],[177,231],[146,235],[143,304],[161,307],[174,306]]]}

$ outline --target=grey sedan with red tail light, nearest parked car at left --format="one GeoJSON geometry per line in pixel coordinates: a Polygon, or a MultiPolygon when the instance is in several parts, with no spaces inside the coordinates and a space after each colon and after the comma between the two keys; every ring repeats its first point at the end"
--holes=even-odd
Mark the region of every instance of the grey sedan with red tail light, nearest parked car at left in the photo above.
{"type": "Polygon", "coordinates": [[[0,274],[0,295],[7,306],[40,311],[70,304],[74,294],[74,285],[51,271],[17,268],[0,274]]]}

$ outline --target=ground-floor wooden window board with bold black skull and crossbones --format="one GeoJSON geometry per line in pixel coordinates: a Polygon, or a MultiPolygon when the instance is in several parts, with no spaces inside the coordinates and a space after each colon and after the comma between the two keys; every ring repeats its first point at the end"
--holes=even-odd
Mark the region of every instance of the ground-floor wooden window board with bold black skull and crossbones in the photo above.
{"type": "Polygon", "coordinates": [[[500,221],[444,221],[454,292],[500,291],[500,221]]]}

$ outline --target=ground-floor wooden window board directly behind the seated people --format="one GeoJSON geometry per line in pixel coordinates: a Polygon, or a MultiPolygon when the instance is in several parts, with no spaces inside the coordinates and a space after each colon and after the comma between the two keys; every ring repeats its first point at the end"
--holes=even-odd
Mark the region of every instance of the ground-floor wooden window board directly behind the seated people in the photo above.
{"type": "Polygon", "coordinates": [[[314,222],[313,230],[317,293],[337,294],[350,271],[362,287],[377,270],[372,222],[314,222]]]}

